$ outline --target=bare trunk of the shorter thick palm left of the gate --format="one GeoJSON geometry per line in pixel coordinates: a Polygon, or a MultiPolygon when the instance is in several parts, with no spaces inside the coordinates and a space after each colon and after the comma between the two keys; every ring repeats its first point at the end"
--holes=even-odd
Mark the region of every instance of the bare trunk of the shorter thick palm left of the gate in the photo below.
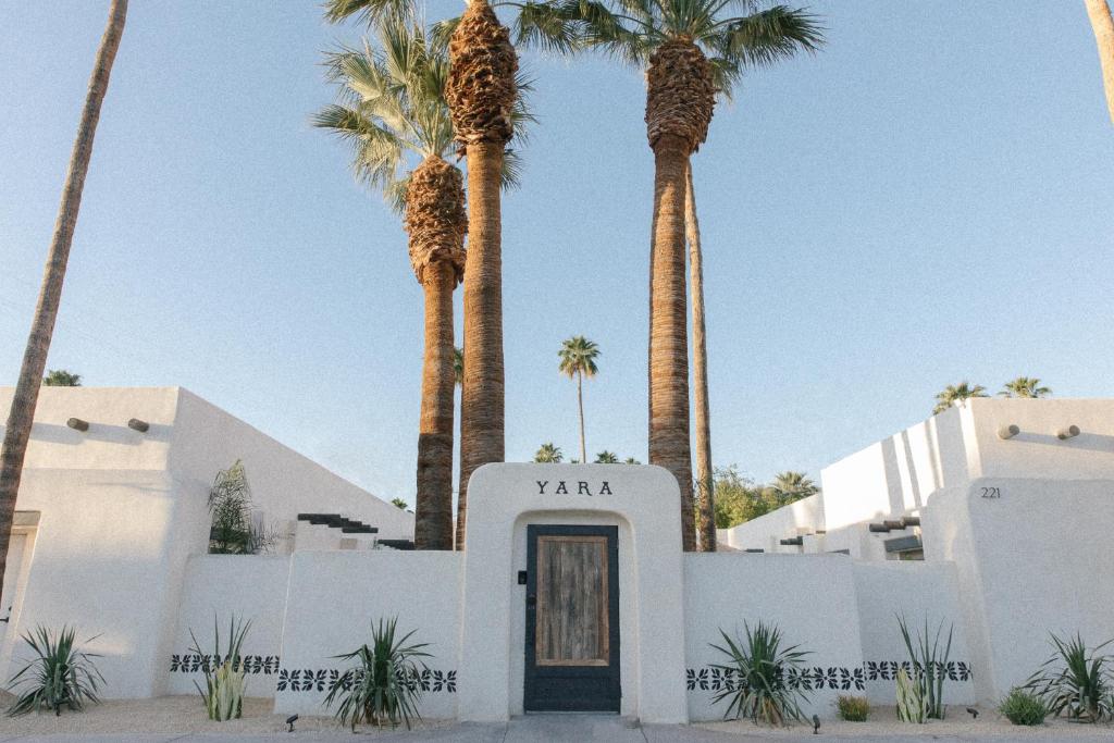
{"type": "Polygon", "coordinates": [[[452,549],[452,290],[456,268],[437,261],[426,271],[426,358],[418,433],[414,548],[452,549]]]}

